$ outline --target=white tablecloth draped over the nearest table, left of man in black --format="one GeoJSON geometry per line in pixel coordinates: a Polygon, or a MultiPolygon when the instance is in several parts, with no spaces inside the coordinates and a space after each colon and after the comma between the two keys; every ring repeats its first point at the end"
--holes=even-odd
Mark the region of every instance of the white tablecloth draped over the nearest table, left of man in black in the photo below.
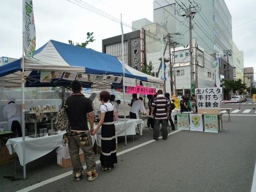
{"type": "MultiPolygon", "coordinates": [[[[61,131],[57,135],[44,136],[38,138],[25,137],[25,163],[34,161],[47,153],[51,152],[57,147],[63,146],[63,135],[66,131],[61,131]]],[[[95,138],[92,137],[94,143],[95,138]]],[[[6,143],[9,153],[17,153],[20,165],[23,165],[23,142],[22,137],[9,139],[6,143]]],[[[63,157],[65,158],[65,156],[63,157]]]]}

